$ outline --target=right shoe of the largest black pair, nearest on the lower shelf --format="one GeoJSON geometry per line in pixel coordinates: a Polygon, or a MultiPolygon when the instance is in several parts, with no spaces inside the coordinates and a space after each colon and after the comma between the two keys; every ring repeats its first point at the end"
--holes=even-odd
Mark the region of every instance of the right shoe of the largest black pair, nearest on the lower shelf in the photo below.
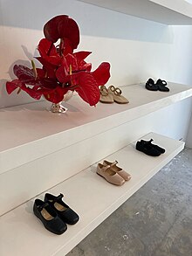
{"type": "Polygon", "coordinates": [[[58,216],[69,225],[74,225],[79,221],[78,214],[73,211],[67,204],[62,201],[64,197],[63,194],[60,194],[58,197],[55,197],[49,193],[45,194],[45,202],[48,202],[54,211],[57,211],[58,216]]]}

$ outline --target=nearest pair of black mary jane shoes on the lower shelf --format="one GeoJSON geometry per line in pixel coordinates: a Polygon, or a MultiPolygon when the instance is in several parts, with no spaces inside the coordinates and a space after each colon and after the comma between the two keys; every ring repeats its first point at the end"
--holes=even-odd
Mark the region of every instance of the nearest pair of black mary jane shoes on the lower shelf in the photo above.
{"type": "Polygon", "coordinates": [[[33,205],[34,214],[41,220],[45,228],[55,234],[62,234],[67,230],[67,225],[74,225],[79,221],[75,211],[62,201],[64,195],[55,197],[45,194],[45,201],[36,199],[33,205]]]}

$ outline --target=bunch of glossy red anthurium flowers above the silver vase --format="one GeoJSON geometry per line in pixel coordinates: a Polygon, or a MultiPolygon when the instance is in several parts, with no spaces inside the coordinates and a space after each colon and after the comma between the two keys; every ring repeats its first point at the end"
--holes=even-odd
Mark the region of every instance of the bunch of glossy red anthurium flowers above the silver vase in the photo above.
{"type": "Polygon", "coordinates": [[[76,91],[90,106],[99,101],[99,86],[106,84],[110,78],[110,64],[102,62],[92,70],[92,64],[86,63],[86,57],[92,52],[73,52],[79,45],[79,26],[67,15],[51,18],[44,26],[45,38],[38,44],[39,57],[42,64],[37,68],[31,60],[31,68],[15,65],[13,72],[16,80],[6,83],[7,93],[18,88],[39,100],[57,104],[62,101],[65,93],[76,91]],[[54,45],[58,42],[58,45],[54,45]]]}

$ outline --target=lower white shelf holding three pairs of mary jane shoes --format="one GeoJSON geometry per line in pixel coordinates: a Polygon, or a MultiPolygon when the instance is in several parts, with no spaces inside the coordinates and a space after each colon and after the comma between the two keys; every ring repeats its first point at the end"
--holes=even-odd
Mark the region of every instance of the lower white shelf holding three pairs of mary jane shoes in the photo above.
{"type": "MultiPolygon", "coordinates": [[[[64,256],[70,252],[184,148],[184,142],[162,135],[150,133],[143,137],[144,140],[151,138],[154,143],[166,149],[165,154],[158,157],[147,156],[137,151],[133,142],[105,158],[109,161],[117,160],[118,166],[132,175],[132,179],[122,186],[114,186],[96,175],[95,164],[49,190],[54,195],[63,193],[65,203],[79,214],[79,222],[68,225],[64,234],[58,236],[45,230],[33,215],[34,200],[3,215],[0,218],[0,255],[64,256]]],[[[44,194],[38,198],[43,199],[44,194]]]]}

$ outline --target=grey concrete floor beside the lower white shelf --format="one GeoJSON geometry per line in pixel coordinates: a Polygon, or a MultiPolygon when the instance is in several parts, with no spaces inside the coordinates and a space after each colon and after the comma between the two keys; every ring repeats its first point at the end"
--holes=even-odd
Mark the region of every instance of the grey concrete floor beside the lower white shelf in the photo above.
{"type": "Polygon", "coordinates": [[[192,256],[192,149],[184,149],[67,256],[192,256]]]}

